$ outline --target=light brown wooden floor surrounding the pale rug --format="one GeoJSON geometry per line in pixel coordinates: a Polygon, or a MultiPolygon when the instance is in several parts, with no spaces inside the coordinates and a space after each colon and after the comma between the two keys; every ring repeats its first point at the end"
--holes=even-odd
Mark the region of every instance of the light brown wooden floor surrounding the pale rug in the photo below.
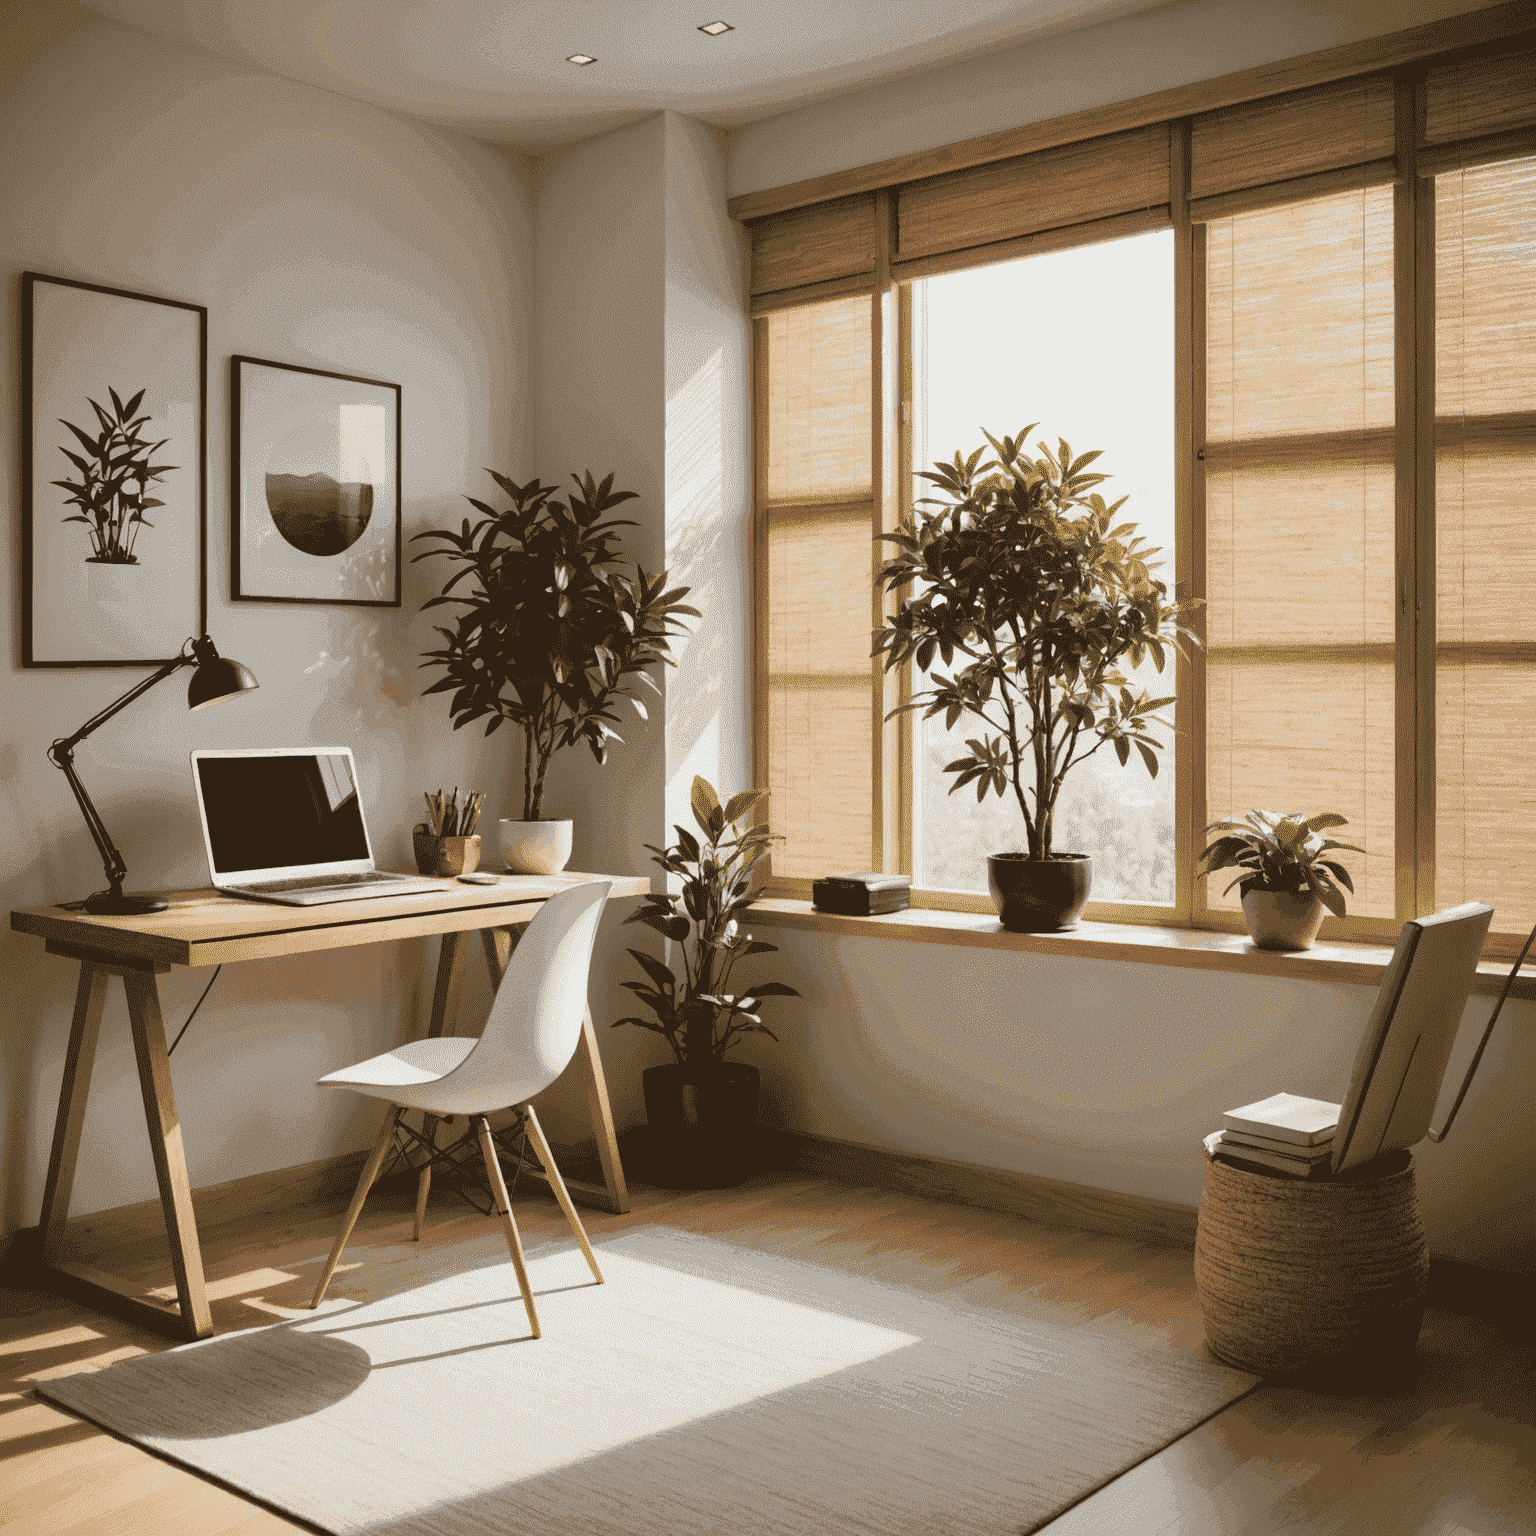
{"type": "MultiPolygon", "coordinates": [[[[525,1241],[564,1233],[551,1200],[515,1200],[525,1241]]],[[[594,1238],[645,1223],[948,1290],[983,1306],[1201,1355],[1190,1255],[800,1174],[742,1189],[634,1192],[628,1217],[585,1212],[594,1238]]],[[[284,1266],[323,1256],[338,1207],[301,1206],[257,1229],[204,1230],[220,1332],[307,1301],[284,1266]]],[[[343,1263],[409,1236],[404,1190],[379,1189],[343,1263]]],[[[424,1241],[482,1230],[435,1193],[424,1241]]],[[[163,1238],[117,1244],[111,1267],[164,1272],[163,1238]]],[[[89,1261],[91,1255],[75,1255],[89,1261]]],[[[309,1270],[313,1275],[313,1269],[309,1270]]],[[[0,1292],[0,1527],[6,1536],[267,1536],[296,1527],[238,1495],[49,1407],[35,1381],[169,1341],[55,1296],[0,1292]]],[[[1260,1387],[1054,1521],[1049,1536],[1536,1536],[1536,1347],[1430,1312],[1418,1385],[1396,1396],[1260,1387]]],[[[833,1533],[828,1533],[833,1536],[833,1533]]]]}

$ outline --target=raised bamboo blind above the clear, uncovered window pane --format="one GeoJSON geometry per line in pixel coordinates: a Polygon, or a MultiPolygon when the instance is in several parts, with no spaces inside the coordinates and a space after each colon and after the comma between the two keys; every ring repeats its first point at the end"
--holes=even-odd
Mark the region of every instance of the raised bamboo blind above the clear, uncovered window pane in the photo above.
{"type": "MultiPolygon", "coordinates": [[[[1140,227],[1167,224],[1169,126],[1155,123],[1032,155],[997,160],[914,181],[897,194],[894,269],[899,278],[954,270],[952,253],[971,261],[1041,230],[1089,224],[1126,214],[1140,227]],[[926,260],[948,257],[948,260],[926,260]]],[[[1123,232],[1117,227],[1117,232],[1123,232]]],[[[1081,244],[1083,237],[1075,241],[1081,244]]]]}

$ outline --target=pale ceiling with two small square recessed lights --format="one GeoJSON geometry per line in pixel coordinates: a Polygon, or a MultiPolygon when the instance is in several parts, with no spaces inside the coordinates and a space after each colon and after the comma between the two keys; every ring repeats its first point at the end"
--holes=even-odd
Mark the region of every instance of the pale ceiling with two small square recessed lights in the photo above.
{"type": "Polygon", "coordinates": [[[720,127],[1163,0],[84,0],[538,154],[670,108],[720,127]],[[725,20],[734,31],[707,37],[725,20]],[[585,68],[568,54],[591,54],[585,68]]]}

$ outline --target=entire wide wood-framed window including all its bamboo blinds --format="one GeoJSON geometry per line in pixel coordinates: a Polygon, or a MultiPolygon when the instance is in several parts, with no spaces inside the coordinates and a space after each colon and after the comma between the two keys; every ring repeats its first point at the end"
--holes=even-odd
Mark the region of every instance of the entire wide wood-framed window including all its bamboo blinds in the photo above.
{"type": "Polygon", "coordinates": [[[874,538],[915,470],[1038,422],[1104,450],[1158,574],[1206,601],[1204,650],[1157,682],[1157,780],[1109,753],[1068,779],[1087,915],[1240,929],[1195,879],[1203,826],[1341,811],[1364,851],[1324,938],[1487,900],[1490,952],[1513,948],[1536,920],[1533,81],[1528,41],[1393,60],[754,226],[776,889],[888,868],[989,909],[1017,811],[949,796],[972,722],[882,723],[923,682],[871,664],[874,538]]]}

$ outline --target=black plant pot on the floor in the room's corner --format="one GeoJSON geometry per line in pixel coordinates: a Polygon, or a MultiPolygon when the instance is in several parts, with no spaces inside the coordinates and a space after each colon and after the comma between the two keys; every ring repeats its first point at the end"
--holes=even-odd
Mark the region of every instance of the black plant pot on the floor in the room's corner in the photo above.
{"type": "Polygon", "coordinates": [[[650,1126],[650,1183],[733,1189],[757,1141],[757,1068],[740,1061],[650,1066],[641,1074],[650,1126]]]}

